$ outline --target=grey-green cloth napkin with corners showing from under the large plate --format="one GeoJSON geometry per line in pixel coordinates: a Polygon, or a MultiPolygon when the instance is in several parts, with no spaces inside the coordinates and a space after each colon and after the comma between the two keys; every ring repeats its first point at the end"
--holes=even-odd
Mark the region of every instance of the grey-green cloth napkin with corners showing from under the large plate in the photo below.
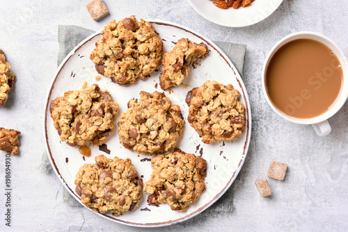
{"type": "MultiPolygon", "coordinates": [[[[91,31],[80,26],[70,26],[70,25],[59,25],[58,26],[58,42],[59,42],[59,51],[58,51],[58,65],[64,60],[65,56],[77,45],[79,42],[88,37],[88,35],[93,34],[94,31],[91,31]]],[[[242,76],[243,65],[244,65],[244,56],[246,52],[246,45],[244,44],[231,44],[230,42],[214,42],[220,49],[226,53],[228,58],[237,68],[237,71],[242,76]]],[[[42,163],[39,166],[44,172],[49,172],[47,168],[49,166],[49,160],[47,154],[44,154],[42,157],[42,163]]],[[[232,189],[229,189],[219,201],[216,201],[209,211],[216,212],[232,212],[232,189]]],[[[67,202],[72,206],[81,206],[78,201],[70,195],[70,193],[65,190],[63,193],[63,201],[67,202]]]]}

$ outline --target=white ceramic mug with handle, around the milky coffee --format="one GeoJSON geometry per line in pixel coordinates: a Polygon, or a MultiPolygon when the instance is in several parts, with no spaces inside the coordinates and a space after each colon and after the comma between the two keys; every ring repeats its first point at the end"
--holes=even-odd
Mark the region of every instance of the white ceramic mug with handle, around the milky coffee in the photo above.
{"type": "Polygon", "coordinates": [[[338,110],[340,110],[340,108],[343,106],[343,104],[347,100],[347,97],[348,97],[348,78],[346,78],[347,75],[348,75],[348,60],[347,60],[347,57],[345,56],[345,53],[343,53],[343,51],[337,46],[337,44],[335,44],[332,40],[330,40],[326,36],[320,35],[319,33],[303,31],[303,32],[297,32],[291,35],[287,35],[285,38],[277,42],[276,45],[274,45],[274,47],[271,49],[271,51],[269,51],[269,54],[267,55],[267,58],[264,61],[264,65],[262,68],[262,89],[264,92],[264,97],[266,97],[267,102],[269,103],[269,106],[271,106],[271,108],[278,115],[280,115],[280,117],[283,117],[284,119],[287,119],[288,121],[294,122],[296,124],[312,124],[315,132],[320,136],[324,136],[324,135],[329,135],[329,133],[331,132],[331,126],[329,122],[327,122],[327,119],[329,119],[329,117],[337,113],[338,110]],[[266,84],[265,84],[265,76],[266,76],[267,67],[274,53],[276,53],[276,51],[278,51],[278,49],[282,47],[284,44],[286,44],[287,42],[290,42],[292,40],[297,40],[297,39],[312,39],[325,44],[335,53],[338,60],[340,60],[340,63],[342,66],[342,72],[343,72],[342,91],[340,92],[340,96],[338,96],[338,99],[335,101],[334,105],[322,115],[319,115],[317,117],[313,117],[310,119],[300,119],[296,117],[291,117],[281,112],[280,110],[278,110],[278,108],[276,108],[276,106],[274,106],[274,104],[269,99],[269,96],[266,90],[266,84]]]}

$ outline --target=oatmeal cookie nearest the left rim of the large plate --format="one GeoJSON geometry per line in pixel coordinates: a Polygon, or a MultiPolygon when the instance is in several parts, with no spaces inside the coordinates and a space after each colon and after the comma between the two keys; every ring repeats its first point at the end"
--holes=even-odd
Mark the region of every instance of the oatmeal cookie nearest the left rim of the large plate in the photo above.
{"type": "Polygon", "coordinates": [[[86,141],[101,145],[116,124],[118,103],[109,92],[91,85],[65,92],[64,97],[51,101],[49,111],[62,141],[70,146],[82,146],[86,141]]]}

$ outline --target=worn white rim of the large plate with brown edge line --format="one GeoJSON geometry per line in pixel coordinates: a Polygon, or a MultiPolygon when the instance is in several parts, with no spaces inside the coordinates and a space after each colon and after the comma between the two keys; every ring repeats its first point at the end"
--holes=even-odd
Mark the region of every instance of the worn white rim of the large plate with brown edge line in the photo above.
{"type": "Polygon", "coordinates": [[[166,222],[155,222],[155,223],[126,222],[126,221],[124,221],[122,219],[111,217],[111,216],[106,215],[106,214],[97,213],[97,212],[93,211],[92,209],[86,207],[84,204],[81,203],[81,200],[79,199],[79,197],[77,197],[77,195],[74,193],[74,191],[65,182],[65,180],[63,179],[63,176],[61,176],[61,173],[59,172],[58,167],[56,166],[56,163],[54,162],[54,158],[52,156],[51,149],[49,147],[49,141],[48,141],[48,132],[47,132],[47,121],[48,121],[47,117],[48,116],[47,115],[49,115],[49,99],[52,96],[52,90],[54,89],[54,84],[56,83],[56,80],[58,78],[58,75],[61,73],[61,70],[65,66],[65,63],[67,63],[68,60],[70,60],[70,58],[72,58],[74,53],[76,53],[81,47],[83,47],[84,44],[86,44],[86,42],[88,42],[90,40],[93,40],[93,38],[95,38],[95,36],[100,35],[102,30],[96,31],[95,33],[89,35],[86,39],[84,39],[81,42],[79,42],[79,44],[77,44],[77,46],[74,47],[72,49],[72,51],[70,51],[68,53],[67,56],[65,56],[64,60],[57,67],[56,72],[54,72],[54,75],[53,75],[54,78],[52,78],[52,81],[51,81],[51,83],[49,85],[49,90],[47,91],[47,94],[46,94],[46,106],[45,106],[45,112],[44,112],[45,113],[45,119],[44,119],[44,128],[43,128],[44,130],[43,130],[43,132],[44,132],[44,137],[45,137],[45,150],[47,151],[47,156],[49,158],[49,163],[51,163],[51,165],[52,165],[52,169],[54,169],[54,172],[55,172],[56,176],[58,177],[59,181],[61,181],[61,183],[63,184],[65,189],[68,190],[68,192],[72,195],[72,197],[77,199],[77,201],[79,201],[79,203],[82,206],[84,206],[85,208],[88,208],[88,210],[91,210],[93,213],[96,213],[96,214],[100,215],[101,217],[109,219],[109,220],[111,220],[113,222],[118,222],[120,224],[124,224],[124,225],[127,225],[127,226],[152,228],[152,227],[169,226],[169,225],[177,224],[177,223],[180,223],[180,222],[184,222],[187,219],[191,219],[192,217],[202,213],[204,210],[206,210],[207,208],[212,206],[230,188],[232,183],[237,178],[240,170],[242,169],[242,167],[244,165],[244,161],[246,159],[246,155],[248,154],[248,147],[249,147],[250,140],[251,140],[251,107],[250,107],[250,102],[249,102],[249,99],[248,99],[248,93],[246,92],[246,88],[245,88],[244,82],[242,80],[242,77],[239,75],[235,65],[228,58],[226,53],[224,53],[216,44],[214,44],[214,42],[212,42],[208,38],[205,38],[204,35],[201,35],[200,33],[197,33],[196,31],[193,31],[190,28],[187,28],[186,26],[182,26],[180,24],[175,24],[173,22],[168,22],[168,21],[161,20],[161,19],[144,19],[144,20],[150,22],[151,24],[159,24],[159,25],[164,25],[164,26],[174,26],[175,28],[184,30],[184,31],[186,31],[188,33],[191,33],[192,35],[196,36],[197,38],[200,38],[200,40],[203,40],[204,42],[209,44],[210,47],[215,49],[219,53],[221,58],[223,58],[223,60],[225,60],[227,65],[229,65],[230,68],[232,69],[232,71],[235,73],[236,80],[237,80],[237,82],[239,84],[239,87],[242,89],[244,101],[246,103],[245,107],[246,107],[246,113],[247,113],[246,114],[247,115],[247,120],[246,120],[246,124],[247,124],[246,128],[247,129],[244,132],[244,133],[246,133],[246,141],[244,142],[243,154],[242,154],[241,160],[239,161],[238,167],[237,167],[237,169],[235,169],[235,172],[233,172],[232,176],[230,177],[230,180],[228,181],[228,183],[226,183],[225,187],[223,189],[221,189],[221,191],[218,194],[216,194],[215,197],[213,197],[207,204],[205,204],[205,205],[201,206],[200,208],[198,208],[198,210],[190,213],[189,215],[184,215],[183,217],[180,217],[180,218],[177,218],[177,219],[173,219],[173,220],[169,220],[169,221],[166,221],[166,222]]]}

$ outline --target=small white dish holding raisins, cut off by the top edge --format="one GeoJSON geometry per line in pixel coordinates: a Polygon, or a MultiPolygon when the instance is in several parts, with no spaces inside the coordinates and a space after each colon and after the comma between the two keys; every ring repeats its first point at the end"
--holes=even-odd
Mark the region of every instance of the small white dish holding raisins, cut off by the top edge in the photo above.
{"type": "Polygon", "coordinates": [[[257,24],[269,17],[283,0],[255,0],[250,6],[220,9],[211,0],[188,0],[193,9],[214,24],[242,27],[257,24]]]}

